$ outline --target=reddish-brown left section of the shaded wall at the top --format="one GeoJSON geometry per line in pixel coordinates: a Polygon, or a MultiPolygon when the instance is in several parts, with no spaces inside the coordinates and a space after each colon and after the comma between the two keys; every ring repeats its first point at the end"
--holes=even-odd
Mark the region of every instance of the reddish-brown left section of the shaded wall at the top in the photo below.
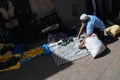
{"type": "Polygon", "coordinates": [[[32,12],[38,17],[44,17],[54,9],[52,2],[53,0],[29,0],[32,12]]]}

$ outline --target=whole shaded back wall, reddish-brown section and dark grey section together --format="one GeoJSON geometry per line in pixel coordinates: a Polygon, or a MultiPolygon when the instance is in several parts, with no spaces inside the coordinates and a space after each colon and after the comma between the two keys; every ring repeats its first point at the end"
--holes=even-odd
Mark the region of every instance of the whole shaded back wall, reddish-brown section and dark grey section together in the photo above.
{"type": "Polygon", "coordinates": [[[63,24],[69,28],[86,12],[85,0],[29,0],[29,3],[32,12],[38,17],[44,17],[53,10],[57,11],[63,24]]]}

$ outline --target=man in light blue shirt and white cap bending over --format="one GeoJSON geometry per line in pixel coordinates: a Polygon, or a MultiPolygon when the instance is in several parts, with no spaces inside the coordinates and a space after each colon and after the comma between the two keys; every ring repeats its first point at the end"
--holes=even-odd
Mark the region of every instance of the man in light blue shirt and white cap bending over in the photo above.
{"type": "Polygon", "coordinates": [[[80,21],[82,22],[82,26],[79,30],[79,33],[78,33],[78,39],[80,38],[80,35],[84,32],[85,30],[85,38],[82,40],[82,42],[80,43],[79,45],[79,48],[82,48],[85,40],[91,36],[91,34],[93,32],[95,32],[95,29],[97,31],[99,31],[98,34],[101,34],[103,33],[104,34],[104,28],[105,28],[105,25],[104,23],[99,19],[97,18],[96,16],[93,16],[93,15],[87,15],[87,14],[82,14],[80,16],[80,21]],[[98,30],[99,29],[99,30],[98,30]]]}

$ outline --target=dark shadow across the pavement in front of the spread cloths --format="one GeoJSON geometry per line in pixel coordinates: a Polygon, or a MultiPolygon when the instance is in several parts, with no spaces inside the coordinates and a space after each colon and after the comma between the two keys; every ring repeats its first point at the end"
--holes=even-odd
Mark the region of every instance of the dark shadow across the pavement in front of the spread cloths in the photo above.
{"type": "Polygon", "coordinates": [[[69,62],[57,67],[49,54],[23,64],[19,70],[0,73],[0,80],[45,80],[71,65],[69,62]]]}

